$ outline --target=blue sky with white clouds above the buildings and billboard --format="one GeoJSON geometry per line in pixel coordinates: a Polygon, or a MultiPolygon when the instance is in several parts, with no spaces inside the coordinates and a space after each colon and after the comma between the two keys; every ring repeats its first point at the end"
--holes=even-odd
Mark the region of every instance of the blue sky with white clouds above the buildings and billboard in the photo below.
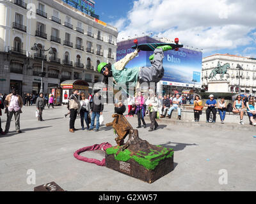
{"type": "Polygon", "coordinates": [[[142,33],[174,39],[211,54],[256,58],[255,0],[95,0],[100,20],[118,28],[118,40],[142,33]]]}

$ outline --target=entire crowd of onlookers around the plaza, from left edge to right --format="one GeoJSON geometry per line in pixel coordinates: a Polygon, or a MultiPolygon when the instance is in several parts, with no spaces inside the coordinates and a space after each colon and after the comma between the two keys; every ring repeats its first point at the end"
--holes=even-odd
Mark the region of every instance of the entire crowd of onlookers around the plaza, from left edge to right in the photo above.
{"type": "MultiPolygon", "coordinates": [[[[87,129],[88,131],[99,131],[100,128],[100,116],[104,109],[104,105],[101,101],[100,90],[94,92],[94,95],[90,93],[88,96],[84,92],[79,93],[78,90],[74,90],[68,98],[68,113],[70,115],[69,131],[74,133],[77,129],[74,127],[77,115],[80,115],[81,128],[87,129]],[[88,97],[88,98],[87,98],[88,97]],[[95,123],[96,119],[96,123],[95,123]],[[84,124],[85,122],[85,124],[84,124]]],[[[214,99],[211,94],[209,99],[203,106],[203,101],[200,96],[196,95],[193,98],[180,95],[179,93],[170,96],[168,94],[162,96],[156,96],[154,91],[149,90],[149,95],[144,96],[140,91],[136,92],[135,96],[128,96],[127,106],[128,113],[125,117],[134,117],[134,114],[138,118],[138,126],[136,128],[147,128],[145,122],[145,116],[150,118],[150,129],[148,131],[156,130],[159,126],[156,122],[157,118],[168,118],[172,117],[173,110],[177,110],[177,119],[181,120],[182,106],[184,104],[191,104],[193,101],[193,112],[195,122],[199,122],[200,115],[202,115],[203,108],[205,108],[206,122],[216,122],[216,113],[219,112],[221,123],[224,123],[226,112],[232,112],[239,115],[239,124],[244,124],[244,115],[248,115],[250,124],[256,126],[256,100],[253,96],[248,98],[244,96],[237,96],[234,102],[228,103],[224,98],[214,99]],[[189,102],[188,102],[189,100],[189,102]],[[141,125],[142,123],[142,125],[141,125]]],[[[42,113],[45,106],[52,106],[54,108],[54,97],[52,94],[24,94],[23,98],[17,94],[15,89],[8,95],[0,93],[0,116],[2,110],[5,109],[4,113],[7,115],[5,130],[1,128],[1,117],[0,117],[0,133],[5,135],[10,129],[10,122],[14,115],[15,117],[15,128],[17,133],[20,131],[20,113],[22,113],[22,106],[30,106],[35,103],[37,109],[37,118],[43,121],[42,113]],[[32,102],[31,102],[32,101],[32,102]]],[[[125,105],[123,106],[125,108],[125,105]]]]}

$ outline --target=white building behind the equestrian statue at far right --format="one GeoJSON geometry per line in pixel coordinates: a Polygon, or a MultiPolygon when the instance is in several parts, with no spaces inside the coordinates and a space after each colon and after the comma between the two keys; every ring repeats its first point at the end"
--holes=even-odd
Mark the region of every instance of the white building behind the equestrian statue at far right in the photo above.
{"type": "MultiPolygon", "coordinates": [[[[214,54],[208,57],[204,57],[202,61],[202,86],[206,88],[209,82],[209,75],[212,69],[216,68],[218,61],[221,66],[225,63],[230,64],[230,69],[227,70],[227,75],[223,80],[229,82],[228,91],[239,92],[239,80],[240,89],[242,94],[256,94],[256,59],[250,57],[241,57],[230,54],[214,54]],[[237,69],[239,64],[243,70],[237,69]]],[[[220,80],[220,75],[216,75],[217,80],[220,80]]],[[[212,79],[211,79],[212,80],[212,79]]]]}

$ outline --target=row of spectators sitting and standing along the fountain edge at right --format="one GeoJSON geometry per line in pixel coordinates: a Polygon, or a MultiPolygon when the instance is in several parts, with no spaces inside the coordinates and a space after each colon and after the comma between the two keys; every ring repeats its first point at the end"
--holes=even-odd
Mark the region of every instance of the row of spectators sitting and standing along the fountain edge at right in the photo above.
{"type": "Polygon", "coordinates": [[[170,119],[172,117],[173,110],[177,110],[177,119],[180,120],[182,106],[193,105],[195,122],[199,122],[200,115],[202,115],[202,111],[205,107],[206,122],[215,123],[216,113],[218,112],[220,114],[221,124],[223,124],[226,112],[228,111],[234,114],[239,114],[239,124],[242,125],[244,124],[243,117],[247,113],[250,119],[250,124],[256,126],[256,100],[253,96],[249,96],[248,98],[244,96],[237,96],[236,100],[233,103],[227,104],[225,98],[220,98],[216,100],[211,94],[209,96],[209,99],[207,99],[207,101],[205,102],[204,106],[202,105],[202,99],[200,99],[200,96],[198,95],[192,98],[190,96],[186,97],[177,93],[171,97],[170,95],[166,94],[162,98],[161,96],[157,97],[154,94],[154,100],[152,99],[152,97],[150,98],[150,96],[148,98],[144,98],[141,92],[138,92],[137,96],[129,96],[127,98],[127,105],[129,109],[128,114],[125,117],[133,117],[134,114],[138,115],[137,128],[141,128],[141,122],[143,123],[143,127],[146,128],[144,117],[148,115],[152,122],[149,131],[152,131],[158,126],[156,125],[155,128],[153,128],[153,124],[157,124],[154,118],[166,117],[170,119]],[[152,102],[152,105],[149,105],[150,102],[152,102]]]}

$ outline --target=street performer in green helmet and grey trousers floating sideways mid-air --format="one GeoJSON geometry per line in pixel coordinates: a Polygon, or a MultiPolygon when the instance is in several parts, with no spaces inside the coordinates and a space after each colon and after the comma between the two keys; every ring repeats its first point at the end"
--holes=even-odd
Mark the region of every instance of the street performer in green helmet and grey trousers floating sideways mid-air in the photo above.
{"type": "Polygon", "coordinates": [[[108,77],[113,77],[115,84],[130,85],[136,87],[138,82],[159,82],[164,76],[163,51],[172,50],[170,45],[163,45],[154,50],[154,54],[149,57],[151,66],[140,68],[125,68],[126,64],[134,59],[140,50],[137,48],[131,54],[127,54],[123,59],[115,62],[112,66],[106,62],[101,62],[98,66],[99,73],[104,75],[104,83],[108,84],[108,77]]]}

